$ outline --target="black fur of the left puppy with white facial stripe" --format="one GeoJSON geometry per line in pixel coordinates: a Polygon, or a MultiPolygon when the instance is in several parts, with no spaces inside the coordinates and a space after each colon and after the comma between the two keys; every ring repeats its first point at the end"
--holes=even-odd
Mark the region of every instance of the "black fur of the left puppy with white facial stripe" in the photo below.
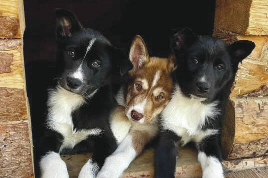
{"type": "MultiPolygon", "coordinates": [[[[116,89],[123,80],[122,76],[132,68],[132,64],[124,53],[113,47],[101,33],[83,28],[76,16],[68,10],[56,9],[56,39],[59,49],[59,68],[53,89],[59,85],[63,89],[82,95],[86,100],[71,113],[73,129],[76,131],[93,128],[102,130],[100,135],[89,136],[77,144],[73,150],[80,151],[77,147],[85,148],[80,144],[92,145],[93,141],[95,149],[92,161],[101,168],[105,158],[117,146],[108,119],[110,111],[116,106],[114,98],[116,89]],[[86,54],[86,49],[92,39],[95,41],[86,54]],[[83,80],[79,81],[72,78],[72,74],[80,65],[83,80]],[[88,98],[96,89],[98,90],[95,94],[88,98]]],[[[36,149],[38,163],[48,151],[59,153],[63,140],[64,137],[60,133],[46,129],[39,141],[39,149],[36,149]]],[[[36,178],[40,176],[39,171],[37,169],[35,172],[36,178]]]]}

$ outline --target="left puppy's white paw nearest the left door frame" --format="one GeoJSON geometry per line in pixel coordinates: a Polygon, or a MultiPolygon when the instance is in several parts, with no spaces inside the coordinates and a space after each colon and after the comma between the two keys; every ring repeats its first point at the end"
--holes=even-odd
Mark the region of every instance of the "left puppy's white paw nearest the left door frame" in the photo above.
{"type": "Polygon", "coordinates": [[[41,178],[69,178],[66,164],[58,153],[49,152],[40,160],[41,178]]]}

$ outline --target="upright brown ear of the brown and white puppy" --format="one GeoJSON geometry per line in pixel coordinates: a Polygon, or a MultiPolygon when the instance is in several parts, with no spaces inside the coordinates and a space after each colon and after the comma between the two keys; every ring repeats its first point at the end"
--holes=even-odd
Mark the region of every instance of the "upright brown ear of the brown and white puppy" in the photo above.
{"type": "Polygon", "coordinates": [[[149,62],[150,57],[141,36],[136,35],[129,51],[129,60],[134,68],[140,68],[149,62]]]}

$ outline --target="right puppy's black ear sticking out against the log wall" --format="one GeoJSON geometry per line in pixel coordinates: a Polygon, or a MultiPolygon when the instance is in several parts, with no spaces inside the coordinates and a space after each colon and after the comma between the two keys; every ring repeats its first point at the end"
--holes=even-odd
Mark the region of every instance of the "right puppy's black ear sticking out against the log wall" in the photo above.
{"type": "Polygon", "coordinates": [[[249,56],[254,48],[255,43],[248,40],[236,41],[229,46],[232,59],[237,64],[249,56]]]}

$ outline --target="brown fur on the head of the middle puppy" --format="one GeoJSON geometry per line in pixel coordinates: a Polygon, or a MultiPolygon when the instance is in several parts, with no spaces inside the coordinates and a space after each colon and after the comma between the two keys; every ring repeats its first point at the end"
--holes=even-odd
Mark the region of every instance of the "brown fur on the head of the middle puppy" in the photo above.
{"type": "Polygon", "coordinates": [[[129,72],[130,80],[126,95],[127,106],[125,111],[127,114],[128,109],[131,106],[141,103],[146,98],[147,101],[143,113],[145,118],[144,123],[150,123],[152,119],[164,109],[171,99],[173,88],[171,72],[175,69],[174,59],[172,57],[169,59],[149,57],[142,38],[136,36],[131,46],[130,60],[132,61],[134,68],[129,72]],[[135,48],[137,49],[135,50],[135,48]],[[139,50],[142,50],[142,52],[137,52],[139,50]],[[140,56],[137,57],[137,54],[140,56]],[[141,64],[141,62],[137,60],[140,60],[143,63],[141,64]],[[157,71],[160,71],[161,75],[157,84],[152,87],[157,71]],[[136,89],[135,84],[142,83],[140,79],[148,82],[148,89],[143,88],[141,91],[136,89]],[[156,91],[156,89],[160,90],[154,94],[153,92],[156,91]],[[156,96],[160,93],[163,94],[164,97],[161,100],[157,100],[156,96]]]}

